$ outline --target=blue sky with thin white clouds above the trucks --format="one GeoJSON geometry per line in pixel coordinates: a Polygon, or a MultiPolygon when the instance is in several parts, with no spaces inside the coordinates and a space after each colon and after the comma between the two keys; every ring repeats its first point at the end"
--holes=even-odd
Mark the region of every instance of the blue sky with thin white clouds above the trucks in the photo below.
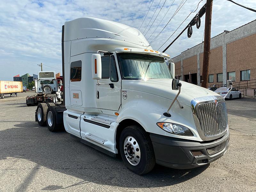
{"type": "MultiPolygon", "coordinates": [[[[139,29],[148,12],[140,31],[143,32],[149,23],[145,30],[145,33],[148,31],[145,37],[148,38],[156,29],[148,40],[151,42],[170,20],[182,0],[174,0],[174,2],[173,0],[166,0],[166,2],[161,0],[160,4],[159,2],[160,0],[154,0],[148,12],[152,0],[2,0],[0,4],[0,80],[13,80],[12,77],[17,74],[37,74],[40,70],[37,64],[41,62],[45,64],[44,70],[60,72],[61,26],[66,20],[73,20],[78,17],[96,17],[117,21],[139,29]],[[156,9],[158,4],[159,7],[156,9]],[[171,4],[172,7],[170,8],[171,4]],[[162,10],[159,12],[162,6],[162,10]],[[149,22],[155,10],[156,13],[149,22]],[[156,18],[158,12],[159,15],[156,18]],[[167,14],[164,17],[166,12],[167,14]],[[163,17],[164,19],[160,23],[163,17]],[[149,28],[150,26],[151,28],[149,28]],[[156,28],[157,26],[158,28],[156,28]]],[[[183,0],[184,2],[185,4],[172,18],[161,35],[151,44],[153,49],[157,50],[170,37],[188,14],[194,10],[200,0],[183,0]]],[[[199,11],[204,2],[205,0],[199,4],[198,10],[188,17],[160,51],[163,51],[172,42],[199,11]]],[[[237,0],[237,2],[256,9],[255,0],[237,0]]],[[[255,12],[246,10],[227,0],[214,0],[212,36],[216,36],[224,30],[233,30],[255,19],[255,12]]],[[[166,53],[170,54],[171,57],[179,55],[180,52],[201,43],[203,34],[204,16],[201,18],[201,27],[199,29],[193,27],[191,38],[187,38],[187,32],[184,32],[166,53]]]]}

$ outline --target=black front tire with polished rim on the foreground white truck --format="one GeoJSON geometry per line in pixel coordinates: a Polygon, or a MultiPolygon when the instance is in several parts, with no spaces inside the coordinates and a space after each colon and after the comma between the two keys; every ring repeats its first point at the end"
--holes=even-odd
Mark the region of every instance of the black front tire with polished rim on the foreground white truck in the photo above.
{"type": "Polygon", "coordinates": [[[119,149],[125,166],[136,174],[148,173],[156,164],[150,137],[137,125],[128,126],[122,131],[119,149]]]}

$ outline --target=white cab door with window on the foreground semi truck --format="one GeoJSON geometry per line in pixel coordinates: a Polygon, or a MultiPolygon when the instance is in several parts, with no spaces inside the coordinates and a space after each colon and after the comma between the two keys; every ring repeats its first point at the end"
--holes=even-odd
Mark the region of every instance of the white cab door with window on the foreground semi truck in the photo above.
{"type": "Polygon", "coordinates": [[[118,111],[121,105],[121,78],[118,74],[116,54],[101,56],[102,75],[99,83],[113,84],[97,85],[96,83],[96,103],[99,109],[118,111]]]}

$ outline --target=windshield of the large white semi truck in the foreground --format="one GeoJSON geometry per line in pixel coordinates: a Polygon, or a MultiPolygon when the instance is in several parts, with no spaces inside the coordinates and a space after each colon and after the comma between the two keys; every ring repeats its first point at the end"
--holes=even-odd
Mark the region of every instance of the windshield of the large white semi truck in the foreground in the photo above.
{"type": "Polygon", "coordinates": [[[172,75],[164,58],[137,53],[118,53],[123,79],[171,79],[172,75]]]}

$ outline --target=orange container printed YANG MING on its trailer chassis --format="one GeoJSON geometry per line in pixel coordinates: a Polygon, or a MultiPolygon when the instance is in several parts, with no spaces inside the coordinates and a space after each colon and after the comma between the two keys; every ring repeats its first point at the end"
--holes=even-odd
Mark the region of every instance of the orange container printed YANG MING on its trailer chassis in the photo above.
{"type": "Polygon", "coordinates": [[[23,91],[22,82],[20,81],[0,81],[0,99],[4,98],[4,94],[15,94],[23,91]]]}

